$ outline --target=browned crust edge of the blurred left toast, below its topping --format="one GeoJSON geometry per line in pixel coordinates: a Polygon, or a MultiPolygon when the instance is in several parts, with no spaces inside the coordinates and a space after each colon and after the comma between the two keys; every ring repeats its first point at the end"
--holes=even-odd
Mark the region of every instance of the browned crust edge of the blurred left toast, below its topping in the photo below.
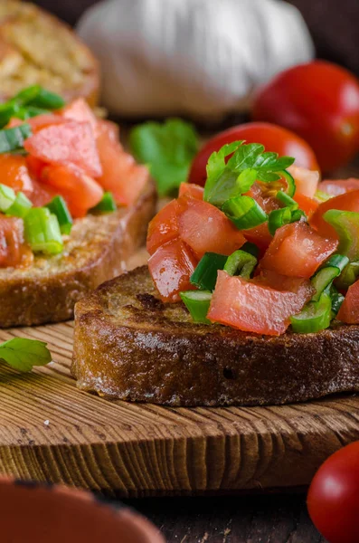
{"type": "MultiPolygon", "coordinates": [[[[71,319],[75,302],[124,271],[126,260],[146,239],[149,220],[156,212],[156,190],[150,181],[137,203],[118,218],[118,227],[103,245],[78,269],[43,275],[29,274],[21,280],[0,281],[0,327],[30,326],[71,319]]],[[[115,212],[118,213],[118,212],[115,212]]]]}

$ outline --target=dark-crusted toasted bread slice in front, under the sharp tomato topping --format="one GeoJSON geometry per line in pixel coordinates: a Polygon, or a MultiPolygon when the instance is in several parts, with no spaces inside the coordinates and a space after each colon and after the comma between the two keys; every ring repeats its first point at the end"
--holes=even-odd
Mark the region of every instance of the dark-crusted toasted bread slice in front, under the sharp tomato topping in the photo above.
{"type": "Polygon", "coordinates": [[[82,390],[165,405],[268,405],[359,390],[359,326],[278,338],[194,324],[163,304],[146,267],[76,305],[72,373],[82,390]]]}

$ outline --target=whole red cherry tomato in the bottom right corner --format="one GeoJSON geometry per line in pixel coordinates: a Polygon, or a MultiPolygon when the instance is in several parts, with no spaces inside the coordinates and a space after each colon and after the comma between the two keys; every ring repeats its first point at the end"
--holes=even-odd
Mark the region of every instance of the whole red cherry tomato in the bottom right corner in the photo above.
{"type": "Polygon", "coordinates": [[[307,508],[329,543],[359,541],[359,442],[335,452],[319,468],[308,491],[307,508]]]}

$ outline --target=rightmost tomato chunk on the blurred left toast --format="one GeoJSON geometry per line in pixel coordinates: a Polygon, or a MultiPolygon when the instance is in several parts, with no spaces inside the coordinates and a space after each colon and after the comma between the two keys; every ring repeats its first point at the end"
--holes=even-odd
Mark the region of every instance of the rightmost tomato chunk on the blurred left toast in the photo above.
{"type": "Polygon", "coordinates": [[[109,131],[102,130],[97,138],[102,176],[99,184],[112,193],[116,202],[131,205],[146,186],[148,170],[137,165],[134,157],[113,141],[109,131]]]}

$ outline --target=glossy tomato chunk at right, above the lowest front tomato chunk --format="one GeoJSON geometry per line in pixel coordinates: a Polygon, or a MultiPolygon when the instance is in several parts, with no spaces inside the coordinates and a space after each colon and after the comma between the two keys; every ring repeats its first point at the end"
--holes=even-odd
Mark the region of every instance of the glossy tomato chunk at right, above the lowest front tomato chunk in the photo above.
{"type": "Polygon", "coordinates": [[[289,277],[312,277],[317,268],[335,252],[336,240],[316,233],[307,223],[281,226],[260,261],[260,269],[289,277]]]}

